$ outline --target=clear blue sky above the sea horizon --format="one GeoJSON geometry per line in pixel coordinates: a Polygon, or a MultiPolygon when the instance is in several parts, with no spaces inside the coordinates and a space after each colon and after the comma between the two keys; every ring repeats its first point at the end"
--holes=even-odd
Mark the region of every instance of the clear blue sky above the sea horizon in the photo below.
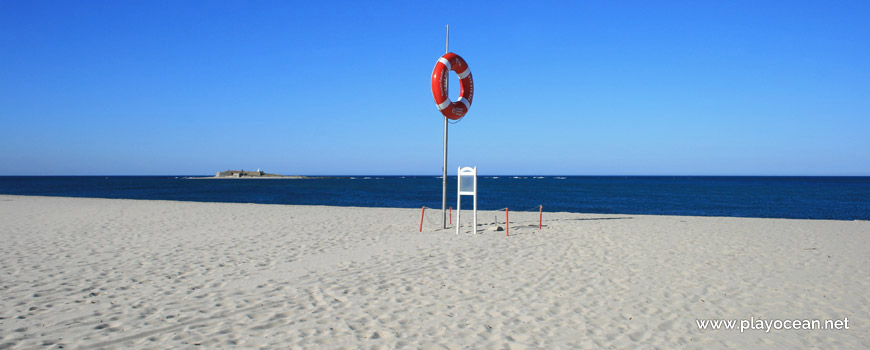
{"type": "Polygon", "coordinates": [[[870,3],[0,2],[0,175],[870,175],[870,3]],[[446,4],[446,3],[445,3],[446,4]],[[451,96],[458,84],[451,84],[451,96]]]}

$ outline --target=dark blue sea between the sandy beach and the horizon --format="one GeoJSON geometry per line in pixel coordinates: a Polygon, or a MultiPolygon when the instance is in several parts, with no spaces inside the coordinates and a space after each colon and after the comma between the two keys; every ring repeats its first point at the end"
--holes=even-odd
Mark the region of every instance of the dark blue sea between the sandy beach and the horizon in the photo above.
{"type": "MultiPolygon", "coordinates": [[[[456,178],[448,180],[455,207],[456,178]]],[[[870,177],[486,176],[478,187],[482,210],[870,220],[870,177]]],[[[0,194],[440,209],[441,179],[4,176],[0,194]]]]}

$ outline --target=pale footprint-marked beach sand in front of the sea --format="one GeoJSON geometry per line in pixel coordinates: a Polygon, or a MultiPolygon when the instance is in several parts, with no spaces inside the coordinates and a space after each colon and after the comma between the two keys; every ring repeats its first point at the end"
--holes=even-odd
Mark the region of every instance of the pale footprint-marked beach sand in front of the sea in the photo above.
{"type": "Polygon", "coordinates": [[[0,196],[0,349],[870,348],[870,222],[437,213],[0,196]]]}

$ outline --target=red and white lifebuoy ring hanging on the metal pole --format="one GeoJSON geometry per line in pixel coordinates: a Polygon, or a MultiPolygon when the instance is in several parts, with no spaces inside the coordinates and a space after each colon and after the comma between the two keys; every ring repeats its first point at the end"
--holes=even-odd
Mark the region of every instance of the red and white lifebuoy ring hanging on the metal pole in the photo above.
{"type": "Polygon", "coordinates": [[[474,98],[474,81],[471,79],[471,69],[462,57],[448,52],[438,59],[435,70],[432,71],[432,96],[435,97],[438,110],[449,119],[457,120],[468,113],[474,98]],[[459,100],[456,102],[447,97],[447,77],[450,71],[459,76],[459,100]]]}

